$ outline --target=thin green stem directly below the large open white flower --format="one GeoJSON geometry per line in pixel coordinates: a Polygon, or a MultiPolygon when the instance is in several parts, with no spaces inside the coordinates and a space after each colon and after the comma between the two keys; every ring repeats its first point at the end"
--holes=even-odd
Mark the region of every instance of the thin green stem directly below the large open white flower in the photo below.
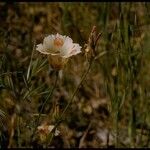
{"type": "Polygon", "coordinates": [[[39,113],[39,116],[38,116],[38,118],[37,118],[37,121],[36,121],[36,124],[35,124],[35,128],[34,128],[34,130],[33,130],[33,134],[32,134],[32,136],[31,136],[31,141],[33,140],[33,137],[34,137],[34,135],[35,135],[36,128],[38,127],[39,120],[40,120],[40,117],[41,117],[41,115],[42,115],[42,111],[43,111],[45,105],[47,104],[49,98],[51,98],[51,96],[52,96],[52,94],[53,94],[53,92],[54,92],[54,89],[56,88],[57,81],[58,81],[58,72],[56,72],[56,79],[55,79],[54,86],[53,86],[52,90],[50,91],[49,95],[47,96],[47,98],[45,99],[45,101],[44,101],[44,103],[42,104],[42,107],[41,107],[41,109],[40,109],[40,113],[39,113]]]}

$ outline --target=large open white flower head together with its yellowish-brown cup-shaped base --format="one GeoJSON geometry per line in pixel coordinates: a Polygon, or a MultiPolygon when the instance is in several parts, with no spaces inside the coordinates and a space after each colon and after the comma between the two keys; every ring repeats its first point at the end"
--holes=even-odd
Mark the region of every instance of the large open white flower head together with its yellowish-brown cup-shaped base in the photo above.
{"type": "Polygon", "coordinates": [[[70,37],[57,33],[45,37],[43,43],[37,45],[36,50],[48,55],[51,67],[60,70],[69,57],[81,53],[81,46],[73,43],[70,37]]]}

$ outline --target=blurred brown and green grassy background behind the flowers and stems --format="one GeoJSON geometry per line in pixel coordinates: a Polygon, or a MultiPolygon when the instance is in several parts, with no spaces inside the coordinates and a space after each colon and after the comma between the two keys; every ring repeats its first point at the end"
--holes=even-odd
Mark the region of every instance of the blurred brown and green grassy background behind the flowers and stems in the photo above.
{"type": "Polygon", "coordinates": [[[55,123],[86,70],[84,45],[102,32],[95,60],[49,147],[150,147],[150,4],[144,2],[0,3],[0,146],[43,147],[31,133],[54,76],[34,45],[70,36],[70,59],[40,123],[55,123]]]}

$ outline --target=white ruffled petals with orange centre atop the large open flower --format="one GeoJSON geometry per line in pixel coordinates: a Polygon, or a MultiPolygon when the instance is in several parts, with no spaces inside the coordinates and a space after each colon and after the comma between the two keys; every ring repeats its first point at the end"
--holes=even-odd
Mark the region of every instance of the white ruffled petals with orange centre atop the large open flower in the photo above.
{"type": "Polygon", "coordinates": [[[36,50],[47,55],[59,55],[62,58],[69,58],[72,55],[81,53],[81,46],[73,43],[70,37],[57,33],[45,37],[43,43],[37,45],[36,50]]]}

